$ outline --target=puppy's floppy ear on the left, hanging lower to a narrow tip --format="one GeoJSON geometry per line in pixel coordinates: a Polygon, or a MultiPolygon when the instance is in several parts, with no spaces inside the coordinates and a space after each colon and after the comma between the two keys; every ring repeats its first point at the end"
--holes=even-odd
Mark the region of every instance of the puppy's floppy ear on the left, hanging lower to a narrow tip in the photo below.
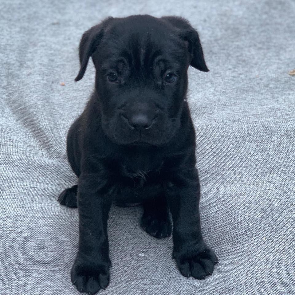
{"type": "Polygon", "coordinates": [[[75,81],[79,81],[83,78],[89,57],[92,56],[101,39],[104,37],[104,29],[112,19],[112,17],[105,19],[103,22],[93,26],[82,35],[79,45],[80,71],[75,78],[75,81]]]}

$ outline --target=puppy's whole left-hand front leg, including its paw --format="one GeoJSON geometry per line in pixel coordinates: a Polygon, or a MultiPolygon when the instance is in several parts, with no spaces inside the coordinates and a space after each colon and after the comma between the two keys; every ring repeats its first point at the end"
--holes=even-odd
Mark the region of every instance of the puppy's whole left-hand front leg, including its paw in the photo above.
{"type": "Polygon", "coordinates": [[[111,201],[99,175],[82,174],[78,182],[79,249],[71,280],[78,291],[95,294],[109,283],[107,220],[111,201]]]}

